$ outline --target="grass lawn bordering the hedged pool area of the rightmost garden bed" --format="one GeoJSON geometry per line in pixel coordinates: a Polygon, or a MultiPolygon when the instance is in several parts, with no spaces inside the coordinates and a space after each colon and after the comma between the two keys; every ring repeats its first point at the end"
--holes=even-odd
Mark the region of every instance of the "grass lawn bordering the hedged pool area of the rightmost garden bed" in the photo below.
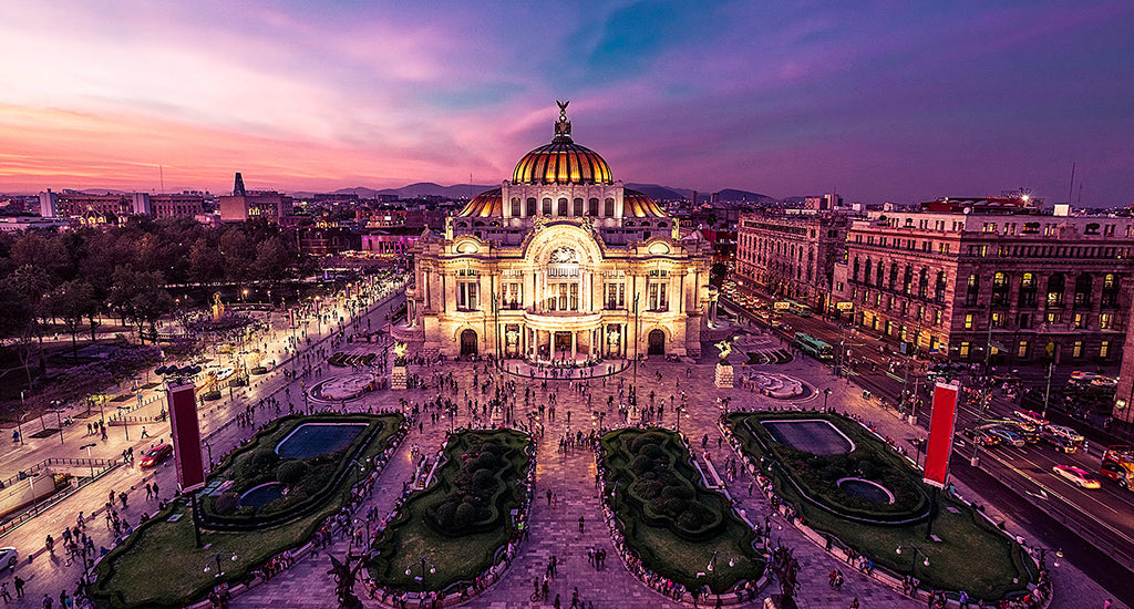
{"type": "MultiPolygon", "coordinates": [[[[784,413],[773,413],[776,418],[784,413]]],[[[755,463],[763,456],[760,445],[752,440],[748,430],[741,421],[752,415],[733,415],[730,423],[741,446],[755,463]]],[[[755,415],[754,421],[761,415],[755,415]]],[[[811,413],[812,417],[829,417],[811,413]]],[[[877,442],[865,434],[856,434],[856,441],[877,442]]],[[[904,462],[903,462],[904,463],[904,462]]],[[[904,466],[912,481],[920,483],[917,472],[904,466]]],[[[846,545],[862,556],[900,575],[911,573],[914,552],[908,549],[915,544],[929,557],[929,566],[923,564],[924,557],[917,556],[916,575],[926,587],[938,590],[964,590],[974,598],[995,600],[1006,593],[1023,590],[1029,582],[1029,568],[1034,572],[1034,564],[1012,539],[996,531],[973,508],[963,502],[949,499],[945,493],[938,496],[937,517],[933,521],[933,534],[940,542],[926,541],[926,523],[908,525],[874,525],[839,517],[820,509],[803,499],[796,490],[779,476],[773,477],[776,491],[793,506],[799,509],[804,522],[816,531],[829,533],[841,540],[846,545]],[[902,547],[902,555],[896,552],[902,547]],[[1026,561],[1026,564],[1025,564],[1026,561]],[[1014,583],[1013,580],[1017,580],[1014,583]]]]}

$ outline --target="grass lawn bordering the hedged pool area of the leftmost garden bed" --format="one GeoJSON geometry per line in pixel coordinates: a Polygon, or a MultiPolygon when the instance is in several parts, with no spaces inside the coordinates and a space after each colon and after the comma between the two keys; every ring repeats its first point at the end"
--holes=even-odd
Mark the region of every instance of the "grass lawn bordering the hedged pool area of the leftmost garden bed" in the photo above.
{"type": "MultiPolygon", "coordinates": [[[[362,447],[358,459],[374,462],[396,440],[401,417],[369,418],[376,420],[382,429],[362,447]]],[[[296,417],[293,422],[303,420],[296,417]]],[[[273,435],[272,431],[265,433],[273,435]]],[[[259,450],[260,441],[270,442],[271,439],[257,435],[247,449],[259,450]]],[[[234,454],[226,459],[210,481],[228,475],[232,467],[239,468],[242,455],[234,454]]],[[[203,526],[201,547],[194,543],[193,517],[188,500],[183,497],[139,524],[125,543],[111,550],[96,567],[92,594],[100,607],[111,609],[174,608],[203,598],[220,582],[246,581],[252,570],[271,557],[306,543],[327,517],[346,504],[354,482],[352,476],[340,476],[322,501],[282,524],[242,531],[203,526]],[[218,576],[218,563],[223,572],[221,576],[218,576]]]]}

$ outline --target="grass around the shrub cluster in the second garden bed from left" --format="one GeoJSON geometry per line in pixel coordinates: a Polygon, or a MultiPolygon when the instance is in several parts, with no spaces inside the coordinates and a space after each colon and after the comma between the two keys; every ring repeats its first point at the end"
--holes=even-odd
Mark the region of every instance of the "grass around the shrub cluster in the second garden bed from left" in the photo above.
{"type": "Polygon", "coordinates": [[[527,443],[526,434],[513,430],[466,431],[454,435],[445,449],[447,460],[437,472],[437,482],[414,493],[403,505],[400,517],[387,526],[384,536],[375,544],[371,576],[384,586],[416,592],[423,586],[425,590],[446,590],[458,582],[472,582],[489,568],[497,550],[513,536],[510,510],[518,508],[524,499],[523,481],[528,472],[527,443]],[[485,531],[447,534],[432,525],[426,514],[454,490],[462,456],[471,450],[469,441],[476,439],[494,439],[508,449],[506,459],[509,466],[501,472],[506,490],[497,504],[500,517],[485,531]],[[424,581],[418,581],[422,557],[426,558],[425,569],[435,569],[435,573],[426,573],[424,581]],[[411,575],[406,575],[406,569],[411,570],[411,575]]]}

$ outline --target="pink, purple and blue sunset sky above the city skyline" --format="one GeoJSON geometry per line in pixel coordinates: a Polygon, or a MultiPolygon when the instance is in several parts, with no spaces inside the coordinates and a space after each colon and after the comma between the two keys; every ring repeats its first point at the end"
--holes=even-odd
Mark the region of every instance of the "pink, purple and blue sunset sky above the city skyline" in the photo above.
{"type": "Polygon", "coordinates": [[[0,193],[615,178],[1134,201],[1134,2],[0,2],[0,193]]]}

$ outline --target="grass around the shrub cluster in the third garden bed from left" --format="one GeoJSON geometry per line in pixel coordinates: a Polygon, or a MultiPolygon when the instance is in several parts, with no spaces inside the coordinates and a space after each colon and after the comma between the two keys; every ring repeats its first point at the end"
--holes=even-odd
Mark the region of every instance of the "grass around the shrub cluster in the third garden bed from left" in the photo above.
{"type": "Polygon", "coordinates": [[[720,510],[723,519],[720,526],[693,539],[679,534],[672,526],[648,519],[643,507],[627,492],[635,475],[631,471],[631,463],[635,457],[628,447],[635,437],[644,432],[641,430],[611,432],[602,439],[604,463],[609,468],[607,483],[608,489],[617,483],[618,497],[615,510],[624,524],[627,545],[637,552],[646,568],[687,589],[709,585],[713,592],[720,593],[745,580],[759,580],[763,574],[764,561],[761,553],[752,548],[752,542],[755,540],[754,532],[733,514],[728,500],[722,494],[701,485],[700,476],[688,464],[689,454],[677,434],[665,430],[650,430],[650,432],[662,433],[668,438],[665,448],[675,452],[674,473],[684,477],[695,489],[691,500],[720,510]],[[706,567],[713,558],[713,552],[717,553],[716,568],[709,573],[706,567]],[[729,566],[729,561],[733,566],[729,566]]]}

